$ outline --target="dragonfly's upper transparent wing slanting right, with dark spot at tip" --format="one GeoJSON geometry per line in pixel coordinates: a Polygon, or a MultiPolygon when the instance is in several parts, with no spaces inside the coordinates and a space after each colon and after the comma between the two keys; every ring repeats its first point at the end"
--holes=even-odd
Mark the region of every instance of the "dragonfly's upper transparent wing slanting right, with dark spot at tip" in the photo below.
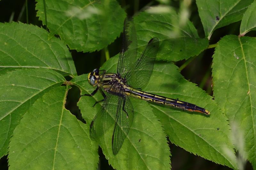
{"type": "Polygon", "coordinates": [[[158,46],[158,38],[155,37],[148,41],[148,45],[140,55],[140,58],[124,76],[128,85],[133,88],[141,88],[148,83],[154,67],[158,46]]]}

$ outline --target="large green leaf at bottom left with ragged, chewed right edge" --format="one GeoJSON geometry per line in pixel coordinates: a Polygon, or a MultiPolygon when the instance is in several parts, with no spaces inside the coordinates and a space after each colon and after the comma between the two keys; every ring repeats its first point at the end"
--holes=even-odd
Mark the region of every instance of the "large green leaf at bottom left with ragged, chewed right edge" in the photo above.
{"type": "Polygon", "coordinates": [[[68,87],[52,88],[36,100],[13,132],[10,169],[96,169],[98,145],[88,125],[65,109],[68,87]]]}

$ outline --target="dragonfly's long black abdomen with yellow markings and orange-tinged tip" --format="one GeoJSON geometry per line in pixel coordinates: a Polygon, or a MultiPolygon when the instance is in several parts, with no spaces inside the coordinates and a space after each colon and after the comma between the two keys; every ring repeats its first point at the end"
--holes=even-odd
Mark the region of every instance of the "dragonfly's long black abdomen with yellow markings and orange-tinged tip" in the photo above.
{"type": "Polygon", "coordinates": [[[138,99],[147,100],[147,101],[155,102],[158,104],[168,105],[171,107],[177,107],[180,109],[188,110],[190,112],[200,112],[206,115],[210,115],[210,112],[208,110],[205,110],[204,108],[196,106],[192,103],[171,99],[171,98],[167,98],[164,96],[159,96],[159,95],[155,95],[147,92],[142,92],[136,89],[132,89],[131,87],[125,88],[125,93],[126,95],[129,95],[138,99]]]}

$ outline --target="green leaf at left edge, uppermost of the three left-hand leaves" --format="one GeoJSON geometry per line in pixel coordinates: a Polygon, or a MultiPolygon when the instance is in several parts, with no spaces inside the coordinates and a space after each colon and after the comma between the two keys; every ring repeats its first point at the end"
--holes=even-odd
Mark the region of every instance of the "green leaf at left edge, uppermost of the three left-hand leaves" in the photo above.
{"type": "MultiPolygon", "coordinates": [[[[48,32],[23,23],[0,23],[0,68],[47,68],[64,76],[76,75],[67,46],[48,32]]],[[[13,69],[12,69],[13,70],[13,69]]]]}

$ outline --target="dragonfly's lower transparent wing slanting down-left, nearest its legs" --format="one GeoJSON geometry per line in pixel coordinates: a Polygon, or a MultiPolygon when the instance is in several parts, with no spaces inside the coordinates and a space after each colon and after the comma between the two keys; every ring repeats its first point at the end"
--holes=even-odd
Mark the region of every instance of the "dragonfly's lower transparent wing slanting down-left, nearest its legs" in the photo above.
{"type": "MultiPolygon", "coordinates": [[[[116,83],[113,88],[116,88],[116,83]]],[[[106,99],[100,111],[95,115],[90,125],[90,136],[92,139],[101,137],[116,120],[118,96],[107,93],[106,99]]]]}

